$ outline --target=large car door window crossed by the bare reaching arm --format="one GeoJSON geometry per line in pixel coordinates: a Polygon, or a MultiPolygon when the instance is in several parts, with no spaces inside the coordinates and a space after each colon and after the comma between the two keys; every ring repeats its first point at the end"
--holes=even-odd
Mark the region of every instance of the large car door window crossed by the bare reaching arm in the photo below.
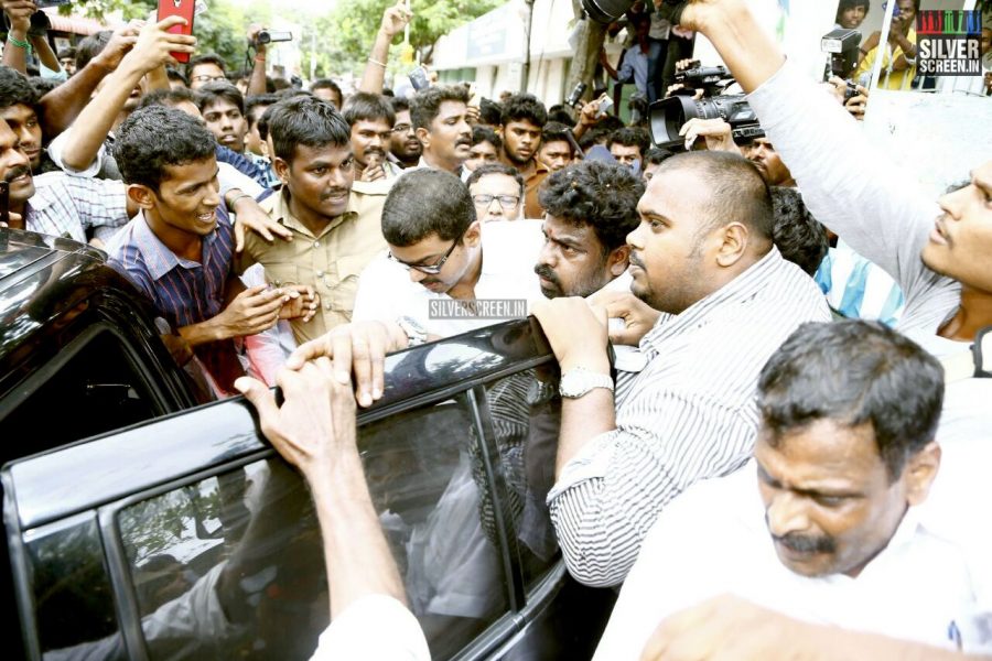
{"type": "MultiPolygon", "coordinates": [[[[363,425],[369,491],[433,659],[508,611],[467,397],[363,425]]],[[[299,475],[265,459],[129,505],[117,522],[152,659],[308,659],[327,625],[320,529],[299,475]]]]}

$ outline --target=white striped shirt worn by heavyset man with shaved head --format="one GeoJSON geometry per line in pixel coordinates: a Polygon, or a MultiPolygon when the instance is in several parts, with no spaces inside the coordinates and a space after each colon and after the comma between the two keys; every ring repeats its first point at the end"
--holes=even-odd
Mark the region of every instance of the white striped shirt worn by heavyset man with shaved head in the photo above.
{"type": "Polygon", "coordinates": [[[812,279],[772,251],[641,339],[645,369],[616,401],[616,429],[590,441],[548,496],[572,575],[622,583],[661,509],[693,483],[727,475],[757,432],[757,377],[804,322],[830,311],[812,279]]]}

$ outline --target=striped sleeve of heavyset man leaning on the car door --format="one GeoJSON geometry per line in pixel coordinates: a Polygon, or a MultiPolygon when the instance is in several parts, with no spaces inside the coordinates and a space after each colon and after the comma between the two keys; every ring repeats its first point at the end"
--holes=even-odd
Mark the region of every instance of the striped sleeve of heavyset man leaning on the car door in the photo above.
{"type": "Polygon", "coordinates": [[[754,445],[753,420],[702,394],[646,393],[626,409],[548,495],[569,572],[595,587],[623,583],[662,508],[697,480],[738,468],[754,445]]]}

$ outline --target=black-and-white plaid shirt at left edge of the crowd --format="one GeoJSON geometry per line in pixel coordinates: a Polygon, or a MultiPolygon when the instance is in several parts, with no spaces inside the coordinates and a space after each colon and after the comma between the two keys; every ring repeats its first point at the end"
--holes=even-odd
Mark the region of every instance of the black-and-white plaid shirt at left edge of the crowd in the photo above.
{"type": "Polygon", "coordinates": [[[50,172],[35,176],[34,187],[24,219],[31,231],[85,243],[87,232],[107,241],[128,223],[123,182],[50,172]]]}

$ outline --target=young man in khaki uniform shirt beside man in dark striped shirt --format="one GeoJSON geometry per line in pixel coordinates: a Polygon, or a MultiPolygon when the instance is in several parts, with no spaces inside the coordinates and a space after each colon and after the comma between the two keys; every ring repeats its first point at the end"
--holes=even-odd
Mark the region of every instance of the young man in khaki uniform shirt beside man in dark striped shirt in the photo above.
{"type": "Polygon", "coordinates": [[[321,314],[292,323],[302,344],[351,321],[358,275],[386,248],[380,219],[391,182],[354,181],[351,129],[330,104],[294,97],[266,116],[282,185],[260,204],[293,236],[269,243],[249,234],[237,268],[258,262],[273,286],[314,288],[321,314]]]}

